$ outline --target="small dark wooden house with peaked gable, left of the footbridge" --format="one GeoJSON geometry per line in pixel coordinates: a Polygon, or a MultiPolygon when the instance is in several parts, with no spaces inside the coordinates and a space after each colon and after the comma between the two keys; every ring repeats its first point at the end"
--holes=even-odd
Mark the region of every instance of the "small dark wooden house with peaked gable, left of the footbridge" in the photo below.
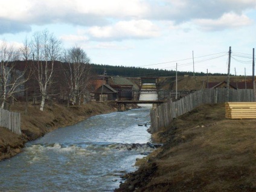
{"type": "Polygon", "coordinates": [[[96,101],[115,101],[118,99],[118,92],[109,85],[102,85],[94,92],[94,99],[96,101]]]}

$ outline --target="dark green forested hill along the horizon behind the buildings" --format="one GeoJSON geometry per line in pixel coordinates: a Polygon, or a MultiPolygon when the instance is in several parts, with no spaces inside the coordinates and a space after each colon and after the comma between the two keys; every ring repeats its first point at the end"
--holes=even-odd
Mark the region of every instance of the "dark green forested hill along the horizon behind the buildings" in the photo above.
{"type": "MultiPolygon", "coordinates": [[[[167,77],[167,76],[175,76],[176,71],[168,71],[163,69],[150,69],[150,68],[136,68],[136,67],[128,67],[128,66],[111,66],[111,65],[97,65],[91,64],[92,71],[98,75],[102,75],[104,73],[104,69],[106,69],[107,75],[112,76],[124,76],[124,77],[167,77]]],[[[191,71],[178,71],[178,75],[193,75],[191,71]]],[[[204,76],[206,75],[203,72],[195,72],[196,76],[204,76]]],[[[209,75],[225,75],[225,74],[209,74],[209,75]]]]}

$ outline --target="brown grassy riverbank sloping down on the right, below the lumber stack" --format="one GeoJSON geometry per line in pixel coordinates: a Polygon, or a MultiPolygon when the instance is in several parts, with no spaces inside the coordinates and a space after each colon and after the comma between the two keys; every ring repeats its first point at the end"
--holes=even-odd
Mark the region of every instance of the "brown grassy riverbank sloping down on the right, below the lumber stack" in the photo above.
{"type": "Polygon", "coordinates": [[[164,146],[115,191],[256,191],[256,120],[200,106],[153,135],[164,146]]]}

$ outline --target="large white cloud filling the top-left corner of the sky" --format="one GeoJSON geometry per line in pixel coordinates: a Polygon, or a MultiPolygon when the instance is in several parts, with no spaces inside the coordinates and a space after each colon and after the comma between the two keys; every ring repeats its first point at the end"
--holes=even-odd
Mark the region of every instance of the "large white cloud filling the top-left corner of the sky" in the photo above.
{"type": "Polygon", "coordinates": [[[35,23],[72,21],[69,16],[76,18],[77,15],[138,18],[148,8],[146,3],[139,0],[8,0],[0,2],[0,18],[35,23]]]}

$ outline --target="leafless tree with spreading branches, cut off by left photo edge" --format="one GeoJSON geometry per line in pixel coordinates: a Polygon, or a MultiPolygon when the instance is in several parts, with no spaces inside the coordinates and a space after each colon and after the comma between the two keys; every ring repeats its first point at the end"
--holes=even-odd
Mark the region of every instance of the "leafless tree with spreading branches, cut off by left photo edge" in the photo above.
{"type": "Polygon", "coordinates": [[[12,45],[8,46],[7,42],[3,41],[0,45],[0,75],[1,75],[1,108],[6,109],[7,100],[14,99],[15,94],[24,92],[26,68],[19,68],[17,62],[20,57],[20,52],[12,45]]]}

